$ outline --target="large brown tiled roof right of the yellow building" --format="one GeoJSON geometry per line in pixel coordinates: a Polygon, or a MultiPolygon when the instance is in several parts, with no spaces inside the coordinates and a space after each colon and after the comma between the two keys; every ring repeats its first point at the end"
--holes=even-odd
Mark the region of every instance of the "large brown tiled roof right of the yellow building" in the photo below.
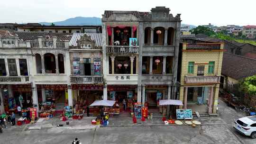
{"type": "Polygon", "coordinates": [[[236,80],[256,74],[256,59],[223,53],[221,74],[236,80]]]}

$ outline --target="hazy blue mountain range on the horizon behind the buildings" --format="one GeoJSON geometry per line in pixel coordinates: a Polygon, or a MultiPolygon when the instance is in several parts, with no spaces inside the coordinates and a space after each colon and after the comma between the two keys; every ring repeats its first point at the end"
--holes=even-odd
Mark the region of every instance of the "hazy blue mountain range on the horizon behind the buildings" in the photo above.
{"type": "MultiPolygon", "coordinates": [[[[63,21],[56,21],[56,22],[40,22],[41,25],[49,26],[52,23],[55,26],[82,26],[82,25],[91,25],[91,26],[101,26],[101,18],[97,17],[75,17],[75,18],[68,18],[63,21]]],[[[182,24],[182,26],[188,26],[188,24],[182,24]]],[[[190,28],[194,28],[196,26],[189,25],[190,28]]]]}

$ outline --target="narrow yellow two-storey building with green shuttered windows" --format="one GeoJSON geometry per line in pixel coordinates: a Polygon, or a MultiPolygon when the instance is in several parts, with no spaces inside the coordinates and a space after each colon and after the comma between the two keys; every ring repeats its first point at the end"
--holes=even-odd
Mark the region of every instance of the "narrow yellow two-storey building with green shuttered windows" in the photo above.
{"type": "Polygon", "coordinates": [[[180,100],[184,109],[216,113],[223,43],[183,43],[180,100]]]}

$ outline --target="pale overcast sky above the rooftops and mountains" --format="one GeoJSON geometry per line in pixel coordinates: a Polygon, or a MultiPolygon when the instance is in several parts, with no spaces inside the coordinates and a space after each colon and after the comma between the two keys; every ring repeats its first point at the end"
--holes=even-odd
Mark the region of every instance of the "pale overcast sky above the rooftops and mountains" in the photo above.
{"type": "Polygon", "coordinates": [[[104,10],[150,11],[155,6],[181,13],[183,24],[256,25],[256,0],[4,0],[0,23],[55,22],[99,17],[104,10]]]}

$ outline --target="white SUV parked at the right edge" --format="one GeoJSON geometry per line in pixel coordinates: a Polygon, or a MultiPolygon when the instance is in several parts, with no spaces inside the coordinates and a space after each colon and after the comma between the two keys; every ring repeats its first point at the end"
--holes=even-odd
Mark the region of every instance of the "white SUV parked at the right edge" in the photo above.
{"type": "Polygon", "coordinates": [[[256,116],[242,117],[235,121],[234,128],[251,138],[256,138],[256,116]]]}

